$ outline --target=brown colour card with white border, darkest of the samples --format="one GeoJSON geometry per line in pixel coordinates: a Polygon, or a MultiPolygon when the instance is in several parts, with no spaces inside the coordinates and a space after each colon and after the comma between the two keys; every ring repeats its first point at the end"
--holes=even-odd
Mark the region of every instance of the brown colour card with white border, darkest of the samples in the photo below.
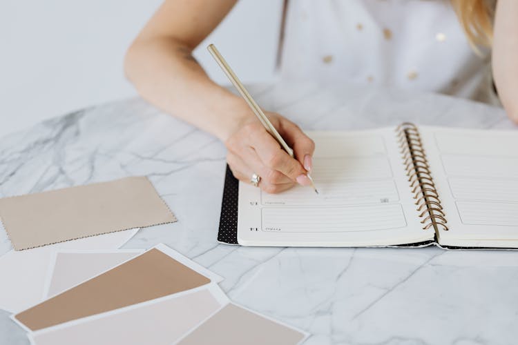
{"type": "Polygon", "coordinates": [[[31,331],[208,284],[210,279],[153,248],[15,318],[31,331]]]}

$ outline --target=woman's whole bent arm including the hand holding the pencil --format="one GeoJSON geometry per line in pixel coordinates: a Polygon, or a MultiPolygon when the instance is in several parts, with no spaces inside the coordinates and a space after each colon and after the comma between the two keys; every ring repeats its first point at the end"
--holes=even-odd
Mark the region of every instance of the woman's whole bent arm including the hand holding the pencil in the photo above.
{"type": "Polygon", "coordinates": [[[126,76],[144,99],[224,141],[234,175],[250,182],[255,172],[269,193],[308,185],[314,143],[284,117],[268,113],[294,148],[289,157],[240,97],[211,81],[193,49],[227,15],[236,0],[166,0],[126,53],[126,76]]]}

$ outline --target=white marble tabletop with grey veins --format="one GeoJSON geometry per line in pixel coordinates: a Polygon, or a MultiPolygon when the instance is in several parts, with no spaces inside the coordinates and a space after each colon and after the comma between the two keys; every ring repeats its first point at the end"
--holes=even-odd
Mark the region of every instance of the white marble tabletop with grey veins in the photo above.
{"type": "MultiPolygon", "coordinates": [[[[250,90],[305,129],[517,128],[500,108],[443,95],[286,82],[250,90]]],[[[311,333],[307,345],[518,342],[518,253],[218,244],[224,159],[215,137],[128,99],[0,139],[0,195],[146,175],[179,221],[142,229],[124,248],[171,246],[222,275],[233,301],[311,333]]],[[[4,240],[0,255],[9,249],[4,240]]],[[[0,344],[26,343],[0,311],[0,344]]]]}

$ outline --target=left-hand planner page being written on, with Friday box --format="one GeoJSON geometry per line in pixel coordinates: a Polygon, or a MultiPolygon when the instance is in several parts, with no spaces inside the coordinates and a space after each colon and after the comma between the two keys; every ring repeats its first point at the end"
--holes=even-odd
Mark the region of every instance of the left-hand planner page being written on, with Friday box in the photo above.
{"type": "Polygon", "coordinates": [[[309,132],[311,176],[271,195],[240,183],[238,242],[251,246],[383,246],[432,239],[419,224],[394,128],[309,132]]]}

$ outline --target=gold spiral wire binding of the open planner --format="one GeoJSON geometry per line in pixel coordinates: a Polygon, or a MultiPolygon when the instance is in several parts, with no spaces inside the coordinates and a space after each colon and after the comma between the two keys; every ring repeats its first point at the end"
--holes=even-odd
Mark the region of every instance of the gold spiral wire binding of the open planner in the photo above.
{"type": "Polygon", "coordinates": [[[448,230],[448,226],[446,226],[448,221],[443,206],[441,206],[439,193],[435,188],[419,130],[414,124],[403,122],[396,128],[396,132],[406,175],[410,182],[412,195],[416,200],[416,210],[421,218],[423,230],[433,227],[435,233],[439,235],[439,226],[448,230]]]}

